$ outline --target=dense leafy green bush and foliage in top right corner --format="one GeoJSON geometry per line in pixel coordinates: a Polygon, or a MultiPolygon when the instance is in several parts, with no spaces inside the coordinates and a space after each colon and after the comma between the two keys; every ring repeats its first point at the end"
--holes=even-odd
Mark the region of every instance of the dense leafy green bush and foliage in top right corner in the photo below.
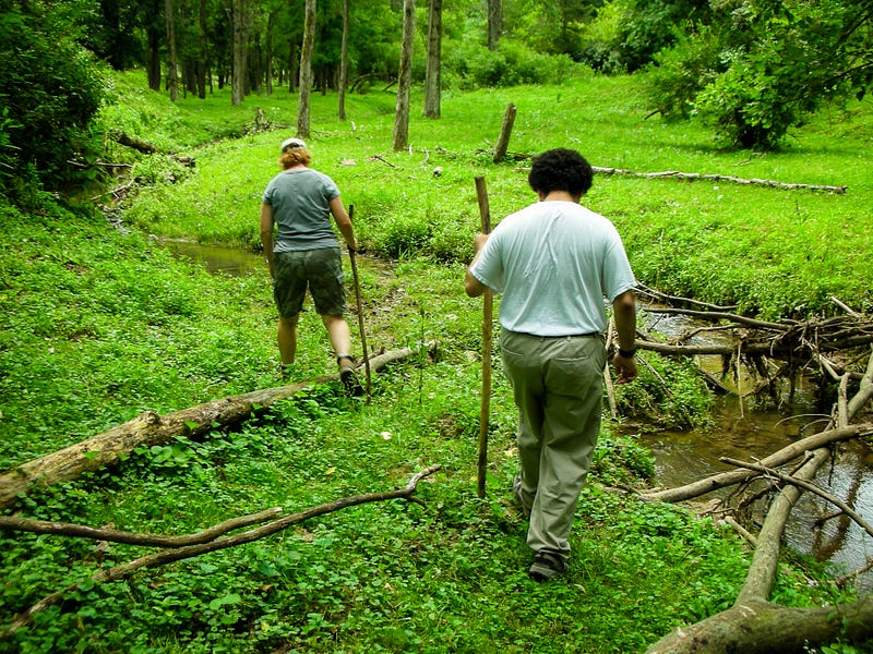
{"type": "Polygon", "coordinates": [[[816,109],[873,82],[869,3],[726,2],[681,15],[683,28],[651,55],[653,100],[668,114],[699,114],[729,145],[774,148],[816,109]]]}

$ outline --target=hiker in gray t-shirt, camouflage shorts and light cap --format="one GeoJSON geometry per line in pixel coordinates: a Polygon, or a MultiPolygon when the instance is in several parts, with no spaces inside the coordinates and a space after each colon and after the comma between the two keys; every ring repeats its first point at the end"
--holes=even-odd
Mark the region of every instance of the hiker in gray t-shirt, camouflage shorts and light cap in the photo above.
{"type": "Polygon", "coordinates": [[[331,226],[334,217],[349,250],[357,250],[351,219],[339,189],[326,174],[309,168],[306,143],[282,143],[283,171],[267,184],[261,203],[261,243],[273,277],[279,313],[277,340],[283,373],[297,353],[297,323],[307,289],[334,348],[344,385],[355,383],[351,335],[346,312],[345,276],[339,242],[331,226]]]}

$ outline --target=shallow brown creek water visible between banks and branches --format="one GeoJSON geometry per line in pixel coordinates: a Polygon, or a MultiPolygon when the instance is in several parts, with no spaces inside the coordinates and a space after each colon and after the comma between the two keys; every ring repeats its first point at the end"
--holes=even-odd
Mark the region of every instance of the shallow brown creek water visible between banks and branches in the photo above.
{"type": "MultiPolygon", "coordinates": [[[[232,276],[252,272],[266,274],[262,254],[238,247],[201,245],[187,241],[166,241],[177,256],[194,262],[214,274],[232,276]]],[[[672,337],[687,331],[693,323],[682,316],[660,316],[650,325],[660,334],[672,337]]],[[[693,342],[718,342],[719,332],[702,332],[693,342]]],[[[699,356],[698,365],[714,375],[720,374],[721,362],[716,356],[699,356]]],[[[741,387],[745,387],[740,379],[741,387]]],[[[773,453],[802,436],[824,426],[827,416],[815,408],[813,388],[800,379],[790,404],[780,410],[760,409],[731,395],[718,400],[713,426],[687,432],[657,432],[641,436],[641,443],[655,456],[657,483],[660,486],[681,486],[731,470],[720,457],[754,461],[773,453]],[[787,407],[787,408],[786,408],[787,407]]],[[[853,443],[839,447],[830,465],[820,471],[816,484],[848,501],[868,522],[873,523],[873,449],[853,443]]],[[[702,499],[717,497],[717,494],[702,499]]],[[[791,513],[786,529],[787,544],[794,550],[829,561],[835,574],[850,572],[873,557],[873,538],[853,521],[838,518],[816,526],[816,521],[835,512],[824,499],[804,493],[791,513]]],[[[873,571],[858,579],[858,586],[873,590],[873,571]]]]}

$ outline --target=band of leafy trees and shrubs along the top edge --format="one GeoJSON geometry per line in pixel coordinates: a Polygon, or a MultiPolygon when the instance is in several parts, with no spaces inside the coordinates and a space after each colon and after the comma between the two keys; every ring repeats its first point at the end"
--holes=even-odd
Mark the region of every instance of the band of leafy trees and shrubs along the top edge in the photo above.
{"type": "MultiPolygon", "coordinates": [[[[153,89],[166,77],[168,92],[200,97],[231,78],[238,101],[274,82],[295,92],[303,4],[0,1],[0,183],[59,189],[82,174],[68,162],[97,147],[101,66],[141,66],[153,89]]],[[[339,82],[343,9],[319,2],[308,84],[321,92],[339,82]]],[[[415,8],[414,84],[426,75],[428,10],[415,8]]],[[[350,90],[396,83],[403,3],[349,0],[348,11],[350,90]]],[[[441,19],[443,86],[645,72],[651,109],[703,120],[738,147],[776,147],[810,113],[873,84],[871,0],[444,0],[441,19]]]]}

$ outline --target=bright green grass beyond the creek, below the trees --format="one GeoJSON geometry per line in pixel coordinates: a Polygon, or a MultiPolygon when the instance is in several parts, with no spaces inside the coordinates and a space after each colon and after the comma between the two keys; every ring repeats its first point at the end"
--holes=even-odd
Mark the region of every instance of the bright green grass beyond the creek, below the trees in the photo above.
{"type": "MultiPolygon", "coordinates": [[[[410,148],[392,153],[388,94],[352,97],[349,120],[339,122],[335,98],[313,96],[310,144],[314,166],[334,177],[346,204],[355,205],[360,240],[383,256],[467,261],[479,226],[474,178],[486,178],[495,223],[534,199],[528,162],[518,155],[569,146],[601,168],[847,186],[837,194],[597,175],[585,204],[617,223],[637,277],[665,292],[770,318],[832,313],[832,295],[859,310],[871,306],[869,100],[817,117],[779,152],[720,150],[695,123],[646,119],[633,78],[589,77],[562,87],[449,94],[439,121],[418,116],[415,98],[410,148]],[[494,166],[489,144],[510,102],[517,106],[513,156],[494,166]],[[443,172],[435,178],[438,166],[443,172]]],[[[198,102],[180,101],[179,113],[190,114],[198,102]]],[[[287,92],[247,102],[252,112],[268,107],[277,126],[292,123],[296,98],[287,92]]],[[[286,126],[188,150],[196,171],[145,189],[127,219],[156,234],[255,247],[260,196],[278,170],[277,143],[289,133],[286,126]]]]}

